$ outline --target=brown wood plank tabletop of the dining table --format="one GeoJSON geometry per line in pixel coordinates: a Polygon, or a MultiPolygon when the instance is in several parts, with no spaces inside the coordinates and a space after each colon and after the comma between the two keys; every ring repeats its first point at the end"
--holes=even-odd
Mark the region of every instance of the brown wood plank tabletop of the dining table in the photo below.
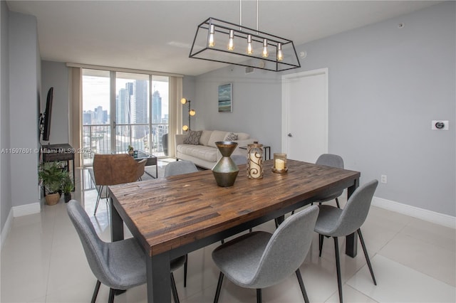
{"type": "Polygon", "coordinates": [[[353,186],[360,173],[287,160],[288,172],[248,179],[246,165],[231,187],[219,187],[212,171],[110,186],[113,206],[150,256],[192,243],[333,188],[353,186]]]}

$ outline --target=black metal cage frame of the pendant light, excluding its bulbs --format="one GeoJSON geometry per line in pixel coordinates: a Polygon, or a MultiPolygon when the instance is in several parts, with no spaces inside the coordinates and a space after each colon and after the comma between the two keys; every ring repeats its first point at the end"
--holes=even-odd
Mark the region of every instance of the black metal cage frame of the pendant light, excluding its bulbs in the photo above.
{"type": "Polygon", "coordinates": [[[207,18],[197,27],[189,58],[241,65],[274,72],[301,68],[301,63],[299,63],[293,41],[212,17],[207,18]],[[226,36],[227,42],[229,39],[229,31],[234,31],[234,38],[237,38],[237,43],[240,42],[241,44],[243,44],[244,41],[247,41],[247,36],[252,36],[252,42],[256,43],[257,50],[254,55],[249,55],[247,54],[247,51],[244,52],[244,50],[239,50],[239,48],[237,50],[228,50],[227,48],[218,47],[217,45],[215,47],[210,47],[209,28],[211,28],[211,26],[214,26],[214,35],[226,36]],[[197,41],[197,38],[199,37],[201,37],[201,41],[197,41]],[[259,52],[259,45],[263,44],[264,39],[266,39],[267,46],[269,50],[271,50],[271,55],[267,58],[262,57],[261,52],[259,52]],[[278,60],[277,58],[279,45],[281,46],[282,51],[284,53],[286,52],[284,60],[278,60]],[[225,58],[216,58],[217,53],[224,55],[225,58]],[[211,55],[215,55],[215,57],[211,57],[211,55]],[[232,58],[233,60],[228,60],[227,58],[232,58]]]}

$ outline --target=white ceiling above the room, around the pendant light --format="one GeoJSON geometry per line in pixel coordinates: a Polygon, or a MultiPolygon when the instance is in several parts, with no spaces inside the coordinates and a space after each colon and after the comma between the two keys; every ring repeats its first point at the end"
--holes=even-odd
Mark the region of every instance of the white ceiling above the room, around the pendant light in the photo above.
{"type": "MultiPolygon", "coordinates": [[[[239,23],[230,1],[6,1],[36,16],[43,60],[199,75],[224,66],[188,58],[199,23],[239,23]]],[[[259,30],[295,46],[423,9],[440,1],[259,1],[259,30]]],[[[242,1],[257,27],[257,1],[242,1]]],[[[296,49],[299,53],[299,48],[296,49]]]]}

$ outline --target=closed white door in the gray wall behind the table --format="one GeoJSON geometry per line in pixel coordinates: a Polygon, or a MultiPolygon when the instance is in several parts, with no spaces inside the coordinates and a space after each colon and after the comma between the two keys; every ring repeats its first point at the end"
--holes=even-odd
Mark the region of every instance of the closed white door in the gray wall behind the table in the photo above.
{"type": "Polygon", "coordinates": [[[315,163],[328,152],[328,69],[282,76],[282,150],[315,163]]]}

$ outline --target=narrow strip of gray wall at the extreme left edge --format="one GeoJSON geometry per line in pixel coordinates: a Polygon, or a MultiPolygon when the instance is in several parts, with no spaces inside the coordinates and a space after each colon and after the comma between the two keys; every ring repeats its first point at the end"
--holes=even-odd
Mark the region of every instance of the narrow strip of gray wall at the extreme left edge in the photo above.
{"type": "MultiPolygon", "coordinates": [[[[9,10],[5,1],[0,1],[1,40],[0,40],[0,148],[9,144],[9,10]]],[[[0,230],[3,231],[11,210],[11,156],[0,153],[0,230]]],[[[2,238],[3,242],[3,238],[2,238]]]]}

